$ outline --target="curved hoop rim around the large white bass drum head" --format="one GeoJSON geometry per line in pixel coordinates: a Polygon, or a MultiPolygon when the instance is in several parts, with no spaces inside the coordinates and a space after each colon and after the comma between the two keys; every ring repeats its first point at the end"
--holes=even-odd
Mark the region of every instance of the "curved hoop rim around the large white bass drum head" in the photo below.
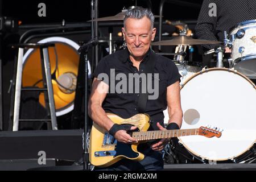
{"type": "MultiPolygon", "coordinates": [[[[247,81],[250,82],[251,85],[253,85],[253,88],[256,90],[256,86],[255,84],[253,83],[253,81],[251,81],[249,78],[247,78],[245,75],[243,75],[242,73],[236,71],[236,69],[229,69],[229,68],[208,68],[208,69],[203,69],[202,71],[196,73],[195,75],[189,77],[183,85],[180,86],[180,90],[183,89],[183,87],[190,81],[192,80],[194,77],[198,76],[198,75],[201,75],[205,72],[210,72],[210,71],[228,71],[228,72],[232,72],[232,73],[235,73],[237,75],[240,75],[241,77],[245,78],[247,81]]],[[[185,147],[186,150],[188,150],[192,155],[195,155],[197,158],[201,158],[201,159],[206,159],[206,160],[214,160],[214,161],[224,161],[224,160],[232,160],[232,159],[236,159],[238,158],[239,156],[241,156],[242,154],[245,154],[246,151],[249,151],[251,147],[254,146],[254,144],[256,143],[256,139],[254,140],[254,142],[251,144],[251,146],[249,146],[248,148],[246,148],[246,150],[244,150],[243,152],[241,152],[241,154],[238,154],[236,156],[233,156],[231,158],[224,158],[224,159],[210,159],[210,158],[207,158],[207,157],[204,157],[202,155],[199,155],[197,154],[196,152],[192,151],[191,148],[189,148],[184,142],[183,140],[178,137],[179,141],[181,142],[181,144],[185,147]]]]}

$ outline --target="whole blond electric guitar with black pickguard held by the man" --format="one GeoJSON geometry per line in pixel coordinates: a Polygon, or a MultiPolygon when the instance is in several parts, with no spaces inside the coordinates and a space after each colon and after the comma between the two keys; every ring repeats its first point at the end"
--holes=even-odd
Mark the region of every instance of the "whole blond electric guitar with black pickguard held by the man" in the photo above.
{"type": "Polygon", "coordinates": [[[147,114],[136,114],[131,118],[123,119],[115,114],[107,114],[108,117],[118,125],[128,124],[137,126],[139,131],[129,133],[138,143],[126,144],[118,142],[108,131],[102,129],[96,123],[90,133],[89,160],[94,166],[108,167],[123,158],[139,161],[144,158],[137,146],[147,140],[183,137],[188,135],[202,135],[204,137],[221,137],[221,132],[207,127],[188,130],[157,130],[147,131],[150,126],[150,118],[147,114]]]}

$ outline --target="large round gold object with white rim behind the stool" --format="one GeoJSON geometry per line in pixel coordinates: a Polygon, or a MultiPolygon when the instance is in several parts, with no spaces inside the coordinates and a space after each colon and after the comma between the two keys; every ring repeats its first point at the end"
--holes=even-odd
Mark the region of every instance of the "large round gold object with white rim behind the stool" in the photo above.
{"type": "MultiPolygon", "coordinates": [[[[51,37],[40,40],[38,43],[55,43],[55,48],[48,49],[51,73],[57,70],[56,80],[52,79],[53,97],[55,101],[56,115],[64,115],[73,110],[75,99],[76,77],[79,68],[79,45],[67,38],[51,37]],[[68,89],[64,89],[62,86],[68,89]]],[[[90,65],[89,76],[90,76],[90,65]]],[[[28,49],[23,57],[22,86],[43,87],[42,68],[39,49],[28,49]]],[[[39,102],[45,106],[44,94],[40,93],[39,102]]]]}

